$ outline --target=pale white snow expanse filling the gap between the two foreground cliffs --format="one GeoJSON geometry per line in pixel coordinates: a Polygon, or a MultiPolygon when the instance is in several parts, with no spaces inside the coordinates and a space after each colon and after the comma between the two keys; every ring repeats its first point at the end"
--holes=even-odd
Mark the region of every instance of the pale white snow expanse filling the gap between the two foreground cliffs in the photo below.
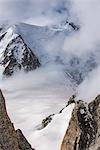
{"type": "Polygon", "coordinates": [[[45,147],[48,148],[50,144],[50,148],[58,150],[74,106],[70,105],[61,114],[58,112],[66,105],[73,91],[71,87],[66,88],[66,85],[61,83],[46,85],[42,78],[42,82],[36,81],[35,84],[35,80],[34,75],[33,79],[32,76],[26,75],[26,77],[19,76],[17,79],[0,82],[6,98],[7,110],[16,129],[20,128],[23,131],[34,148],[47,150],[45,147]],[[52,113],[57,114],[52,122],[46,128],[37,130],[42,120],[52,113]]]}

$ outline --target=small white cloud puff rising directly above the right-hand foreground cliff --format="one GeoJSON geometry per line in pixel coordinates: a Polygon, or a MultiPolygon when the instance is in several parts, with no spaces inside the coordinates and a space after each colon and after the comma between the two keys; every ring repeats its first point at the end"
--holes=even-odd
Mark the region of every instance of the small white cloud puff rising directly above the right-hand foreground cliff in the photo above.
{"type": "Polygon", "coordinates": [[[78,87],[78,99],[92,101],[100,94],[100,66],[93,70],[78,87]]]}

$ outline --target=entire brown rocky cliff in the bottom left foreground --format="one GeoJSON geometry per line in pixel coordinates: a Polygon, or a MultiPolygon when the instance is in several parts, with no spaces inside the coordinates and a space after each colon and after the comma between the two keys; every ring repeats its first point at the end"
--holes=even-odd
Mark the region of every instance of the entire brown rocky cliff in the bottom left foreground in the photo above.
{"type": "Polygon", "coordinates": [[[0,150],[34,150],[21,130],[15,131],[5,106],[5,99],[0,91],[0,150]]]}

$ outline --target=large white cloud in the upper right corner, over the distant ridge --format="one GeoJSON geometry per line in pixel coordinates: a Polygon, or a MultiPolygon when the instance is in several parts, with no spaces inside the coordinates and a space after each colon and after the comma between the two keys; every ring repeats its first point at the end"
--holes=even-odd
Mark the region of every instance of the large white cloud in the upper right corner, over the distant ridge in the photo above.
{"type": "Polygon", "coordinates": [[[64,49],[75,53],[95,50],[100,45],[100,1],[72,0],[73,14],[80,24],[79,32],[66,38],[64,49]]]}

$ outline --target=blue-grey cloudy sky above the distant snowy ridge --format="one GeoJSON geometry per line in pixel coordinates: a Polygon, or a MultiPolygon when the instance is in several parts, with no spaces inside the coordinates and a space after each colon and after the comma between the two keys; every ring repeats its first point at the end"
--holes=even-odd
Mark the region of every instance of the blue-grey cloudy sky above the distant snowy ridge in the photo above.
{"type": "Polygon", "coordinates": [[[70,0],[0,0],[0,21],[52,24],[68,17],[70,0]]]}

